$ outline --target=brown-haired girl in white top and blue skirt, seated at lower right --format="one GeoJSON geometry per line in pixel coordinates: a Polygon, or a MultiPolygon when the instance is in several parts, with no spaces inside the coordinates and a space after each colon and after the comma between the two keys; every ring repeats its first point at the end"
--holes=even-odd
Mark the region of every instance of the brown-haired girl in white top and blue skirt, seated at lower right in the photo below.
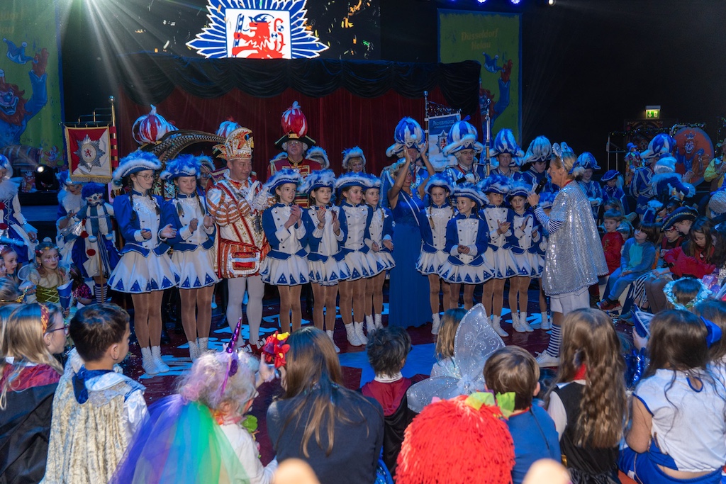
{"type": "Polygon", "coordinates": [[[650,321],[650,364],[632,398],[619,466],[638,483],[720,483],[726,462],[726,388],[709,367],[722,337],[682,310],[650,321]]]}

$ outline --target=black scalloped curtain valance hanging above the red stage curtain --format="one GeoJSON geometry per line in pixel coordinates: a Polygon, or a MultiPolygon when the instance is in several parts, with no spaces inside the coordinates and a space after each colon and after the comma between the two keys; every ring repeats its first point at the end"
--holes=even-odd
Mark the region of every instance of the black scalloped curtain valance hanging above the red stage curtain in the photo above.
{"type": "Polygon", "coordinates": [[[142,105],[160,103],[176,87],[195,97],[214,99],[234,88],[253,97],[277,97],[288,88],[324,97],[343,88],[364,98],[380,97],[389,89],[403,97],[421,98],[424,91],[438,86],[447,104],[462,115],[478,112],[481,65],[476,61],[194,59],[146,52],[123,56],[120,61],[119,67],[126,70],[119,75],[123,89],[142,105]]]}

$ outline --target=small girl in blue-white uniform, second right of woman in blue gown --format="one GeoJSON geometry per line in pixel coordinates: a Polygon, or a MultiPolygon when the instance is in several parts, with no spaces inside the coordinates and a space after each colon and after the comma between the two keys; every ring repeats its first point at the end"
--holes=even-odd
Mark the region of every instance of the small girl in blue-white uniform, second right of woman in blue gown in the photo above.
{"type": "Polygon", "coordinates": [[[464,284],[464,308],[469,310],[474,305],[476,284],[492,278],[492,269],[484,260],[489,235],[486,223],[478,213],[486,198],[468,181],[456,186],[454,197],[459,212],[446,223],[444,250],[449,257],[439,268],[439,274],[451,284],[451,300],[456,307],[459,306],[461,284],[464,284]]]}

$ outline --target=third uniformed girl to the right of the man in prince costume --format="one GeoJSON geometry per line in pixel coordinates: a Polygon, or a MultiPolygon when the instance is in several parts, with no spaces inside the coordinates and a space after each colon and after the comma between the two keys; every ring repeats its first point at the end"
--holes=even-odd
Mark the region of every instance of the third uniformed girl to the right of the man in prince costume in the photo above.
{"type": "Polygon", "coordinates": [[[338,220],[343,232],[340,251],[348,266],[350,276],[338,284],[340,291],[340,317],[346,327],[348,343],[361,346],[368,343],[363,332],[366,279],[374,274],[367,252],[370,250],[370,224],[373,209],[363,203],[363,187],[367,183],[360,173],[346,173],[335,181],[340,197],[338,220]]]}

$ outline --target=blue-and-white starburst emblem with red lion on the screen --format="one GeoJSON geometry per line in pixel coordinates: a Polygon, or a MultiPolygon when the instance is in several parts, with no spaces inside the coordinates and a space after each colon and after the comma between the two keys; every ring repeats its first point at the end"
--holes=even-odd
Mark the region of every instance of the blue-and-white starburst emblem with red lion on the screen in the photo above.
{"type": "Polygon", "coordinates": [[[209,0],[208,25],[187,42],[208,59],[319,57],[328,47],[306,24],[306,0],[209,0]]]}

